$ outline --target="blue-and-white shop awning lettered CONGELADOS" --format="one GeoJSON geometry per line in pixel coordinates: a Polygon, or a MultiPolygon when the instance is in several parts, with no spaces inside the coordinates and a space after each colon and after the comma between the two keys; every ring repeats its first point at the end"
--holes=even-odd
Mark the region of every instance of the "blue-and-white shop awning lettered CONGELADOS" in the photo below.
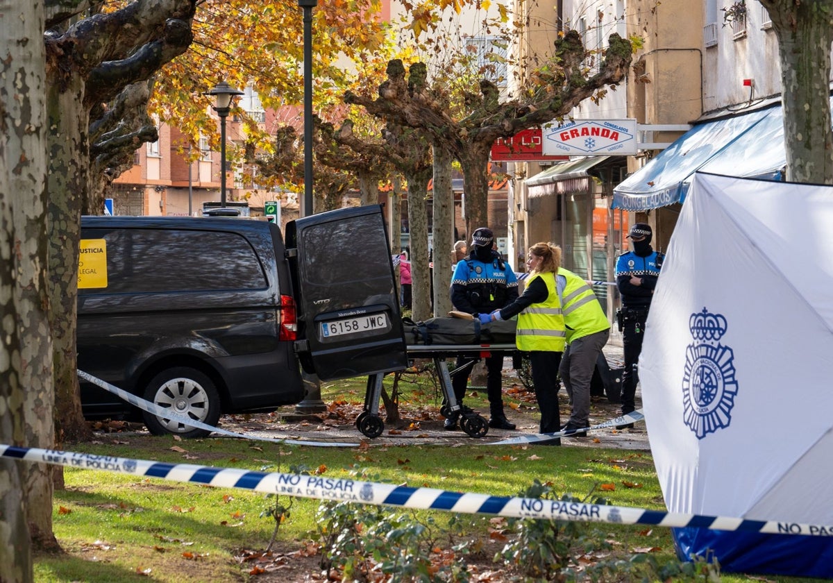
{"type": "MultiPolygon", "coordinates": [[[[683,202],[694,172],[706,170],[705,166],[716,157],[721,157],[721,163],[731,164],[731,172],[716,172],[713,167],[709,168],[709,172],[730,176],[751,176],[748,173],[739,173],[739,168],[742,169],[742,167],[737,158],[735,162],[732,162],[731,157],[723,157],[722,153],[736,144],[741,137],[748,137],[749,141],[743,142],[747,149],[754,150],[760,147],[761,137],[757,136],[756,129],[760,122],[773,113],[778,117],[778,122],[781,122],[781,107],[775,107],[716,122],[704,122],[692,127],[651,162],[613,189],[613,208],[621,208],[625,211],[646,211],[651,208],[666,207],[675,202],[683,202]]],[[[775,123],[774,120],[771,122],[775,123]]],[[[774,127],[766,125],[769,132],[772,132],[774,127]]],[[[783,150],[783,139],[779,143],[783,150]]],[[[741,149],[740,144],[737,149],[741,149]]],[[[741,152],[746,152],[746,150],[741,152]]],[[[754,157],[752,152],[749,157],[754,157]]],[[[766,166],[764,162],[766,161],[757,159],[759,166],[766,166]]]]}

